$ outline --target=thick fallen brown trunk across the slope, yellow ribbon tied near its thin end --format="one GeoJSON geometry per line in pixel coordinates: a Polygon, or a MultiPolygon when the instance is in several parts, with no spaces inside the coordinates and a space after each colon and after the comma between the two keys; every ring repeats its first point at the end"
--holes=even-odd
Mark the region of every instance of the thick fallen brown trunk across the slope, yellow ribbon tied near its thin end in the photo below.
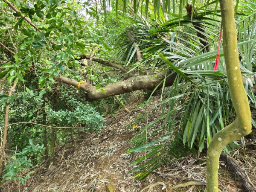
{"type": "MultiPolygon", "coordinates": [[[[156,88],[157,85],[160,84],[167,76],[168,78],[166,79],[165,86],[171,86],[175,80],[176,74],[170,74],[171,71],[162,71],[157,74],[134,76],[125,81],[108,84],[101,89],[96,89],[96,87],[84,82],[80,84],[80,89],[87,92],[86,94],[88,100],[96,100],[123,93],[129,93],[135,90],[154,90],[154,88],[156,88]]],[[[79,84],[79,82],[66,77],[55,77],[55,80],[75,87],[77,87],[79,84]]],[[[160,84],[160,86],[161,85],[162,84],[160,84]]]]}

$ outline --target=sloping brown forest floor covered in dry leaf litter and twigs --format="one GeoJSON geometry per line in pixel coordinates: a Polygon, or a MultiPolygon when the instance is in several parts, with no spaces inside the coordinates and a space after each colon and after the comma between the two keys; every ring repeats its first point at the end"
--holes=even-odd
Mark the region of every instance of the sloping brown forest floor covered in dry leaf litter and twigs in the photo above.
{"type": "MultiPolygon", "coordinates": [[[[105,129],[98,134],[86,134],[82,140],[76,140],[76,147],[68,143],[55,155],[55,162],[44,168],[35,166],[31,178],[25,184],[6,182],[0,185],[2,192],[106,192],[107,185],[116,186],[115,192],[139,192],[148,185],[156,182],[166,184],[168,192],[202,192],[206,185],[206,153],[197,156],[189,154],[179,160],[173,159],[151,173],[146,179],[134,180],[131,162],[139,154],[127,154],[132,147],[130,140],[140,128],[154,121],[161,113],[160,108],[154,109],[144,116],[159,102],[160,98],[154,96],[150,105],[128,104],[126,108],[130,113],[120,110],[115,117],[106,116],[105,129]],[[136,123],[137,128],[133,128],[136,123]],[[200,185],[192,185],[171,189],[180,183],[197,181],[200,185]]],[[[256,115],[254,115],[254,119],[256,115]]],[[[160,126],[158,122],[154,126],[160,126]]],[[[255,128],[253,128],[255,135],[255,128]]],[[[246,153],[237,148],[231,154],[233,159],[246,171],[251,182],[256,185],[256,140],[246,139],[248,146],[246,153]]],[[[140,154],[141,155],[141,154],[140,154]]],[[[41,163],[42,165],[42,163],[41,163]]],[[[23,173],[25,174],[25,172],[23,173]]],[[[242,183],[236,175],[228,170],[228,166],[220,161],[219,189],[224,192],[244,192],[242,183]]],[[[147,189],[148,190],[148,189],[147,189]]],[[[147,191],[145,190],[145,191],[147,191]]],[[[166,191],[163,186],[156,186],[152,192],[166,191]]],[[[112,191],[111,191],[112,192],[112,191]]]]}

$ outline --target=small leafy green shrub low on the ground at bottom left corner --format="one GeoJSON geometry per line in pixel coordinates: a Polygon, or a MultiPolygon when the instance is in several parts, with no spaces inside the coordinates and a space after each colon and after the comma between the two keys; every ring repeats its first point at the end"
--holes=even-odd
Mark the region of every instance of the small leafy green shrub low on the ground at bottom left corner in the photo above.
{"type": "Polygon", "coordinates": [[[23,148],[22,151],[15,153],[10,163],[6,166],[6,168],[3,170],[5,173],[3,175],[4,180],[19,180],[22,184],[25,183],[26,180],[28,180],[33,172],[29,172],[27,175],[17,177],[17,175],[32,167],[32,160],[31,157],[35,155],[36,153],[40,153],[44,150],[44,145],[34,145],[32,139],[29,140],[29,145],[27,145],[25,148],[23,148]]]}

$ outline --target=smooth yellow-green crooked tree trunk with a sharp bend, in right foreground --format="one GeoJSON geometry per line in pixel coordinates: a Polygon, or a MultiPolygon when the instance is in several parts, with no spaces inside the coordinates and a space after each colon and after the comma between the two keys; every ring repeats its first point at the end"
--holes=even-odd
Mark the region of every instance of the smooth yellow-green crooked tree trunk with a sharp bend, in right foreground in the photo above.
{"type": "Polygon", "coordinates": [[[230,96],[236,111],[233,123],[212,138],[207,151],[207,192],[218,192],[219,157],[223,148],[251,132],[251,113],[241,78],[233,0],[220,0],[223,49],[230,96]]]}

